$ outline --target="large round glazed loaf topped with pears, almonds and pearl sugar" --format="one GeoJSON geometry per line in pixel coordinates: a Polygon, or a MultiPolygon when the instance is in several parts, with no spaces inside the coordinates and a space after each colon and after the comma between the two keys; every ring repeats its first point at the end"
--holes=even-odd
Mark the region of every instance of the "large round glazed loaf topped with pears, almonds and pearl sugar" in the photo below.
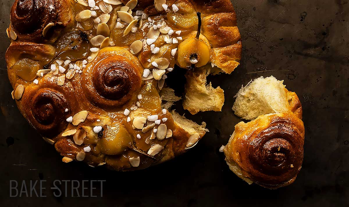
{"type": "Polygon", "coordinates": [[[180,98],[166,77],[175,65],[230,73],[241,55],[229,0],[15,0],[10,18],[12,96],[63,162],[130,171],[184,153],[206,124],[170,112],[180,98]]]}

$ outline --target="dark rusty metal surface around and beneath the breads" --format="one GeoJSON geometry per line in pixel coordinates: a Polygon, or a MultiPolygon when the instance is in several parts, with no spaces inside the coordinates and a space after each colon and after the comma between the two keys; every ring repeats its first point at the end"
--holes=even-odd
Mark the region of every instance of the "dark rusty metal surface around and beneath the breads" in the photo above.
{"type": "MultiPolygon", "coordinates": [[[[222,112],[188,116],[205,121],[210,132],[170,162],[127,173],[62,163],[22,117],[10,96],[4,59],[13,1],[0,2],[0,206],[349,206],[347,0],[233,0],[243,38],[241,65],[231,75],[209,78],[225,91],[222,112]],[[302,170],[278,190],[240,180],[218,152],[241,121],[231,110],[238,89],[270,75],[297,92],[306,128],[302,170]],[[9,180],[47,180],[49,188],[64,179],[106,180],[103,198],[55,198],[50,189],[45,198],[9,197],[9,180]]],[[[171,79],[180,93],[181,73],[171,79]]]]}

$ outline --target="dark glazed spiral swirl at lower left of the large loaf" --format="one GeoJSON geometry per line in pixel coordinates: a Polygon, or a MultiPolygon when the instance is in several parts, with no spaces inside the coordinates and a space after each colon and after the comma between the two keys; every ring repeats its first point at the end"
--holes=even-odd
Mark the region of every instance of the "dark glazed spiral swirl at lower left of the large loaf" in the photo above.
{"type": "Polygon", "coordinates": [[[66,118],[77,111],[73,104],[77,101],[71,85],[60,88],[48,79],[42,79],[39,85],[27,86],[20,107],[39,133],[51,138],[67,127],[66,118]]]}

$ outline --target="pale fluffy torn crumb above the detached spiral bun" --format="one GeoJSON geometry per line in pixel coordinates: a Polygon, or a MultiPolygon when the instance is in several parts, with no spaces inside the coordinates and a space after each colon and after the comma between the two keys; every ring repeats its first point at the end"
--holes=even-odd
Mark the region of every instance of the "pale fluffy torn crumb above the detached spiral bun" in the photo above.
{"type": "Polygon", "coordinates": [[[233,111],[239,117],[252,120],[260,115],[290,111],[288,90],[275,77],[259,77],[236,94],[233,111]]]}

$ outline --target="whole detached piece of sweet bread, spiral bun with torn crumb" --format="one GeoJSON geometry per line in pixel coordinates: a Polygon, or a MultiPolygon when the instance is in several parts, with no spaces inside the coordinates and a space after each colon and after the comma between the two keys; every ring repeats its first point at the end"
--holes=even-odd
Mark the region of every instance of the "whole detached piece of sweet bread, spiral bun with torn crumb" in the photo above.
{"type": "Polygon", "coordinates": [[[221,148],[230,169],[247,183],[270,189],[294,182],[304,145],[302,105],[296,93],[273,76],[260,77],[238,92],[233,109],[249,119],[259,116],[238,123],[221,148]]]}

